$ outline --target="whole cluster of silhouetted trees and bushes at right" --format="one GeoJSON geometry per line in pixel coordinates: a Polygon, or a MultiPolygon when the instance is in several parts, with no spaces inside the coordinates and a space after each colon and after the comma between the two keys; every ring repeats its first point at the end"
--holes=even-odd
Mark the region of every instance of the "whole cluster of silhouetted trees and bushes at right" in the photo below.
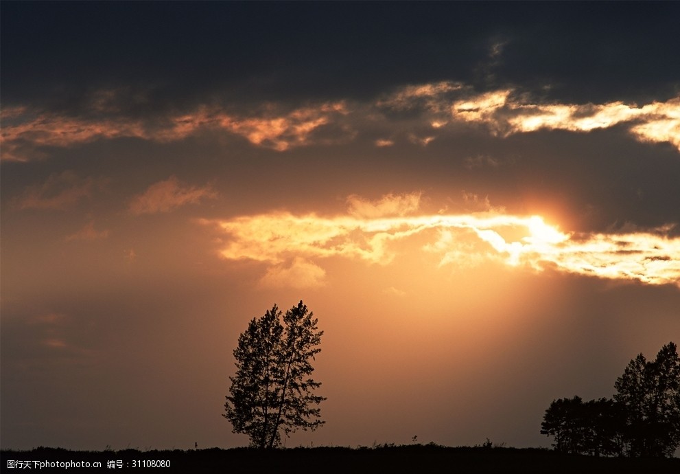
{"type": "Polygon", "coordinates": [[[613,399],[553,400],[541,434],[553,436],[554,448],[565,453],[672,456],[680,446],[680,358],[675,343],[661,348],[655,361],[638,355],[614,387],[613,399]]]}

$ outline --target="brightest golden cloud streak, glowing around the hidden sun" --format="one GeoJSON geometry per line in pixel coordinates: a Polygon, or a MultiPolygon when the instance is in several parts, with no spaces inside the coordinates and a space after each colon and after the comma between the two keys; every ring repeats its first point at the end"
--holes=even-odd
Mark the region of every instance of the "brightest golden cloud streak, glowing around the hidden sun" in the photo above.
{"type": "MultiPolygon", "coordinates": [[[[410,198],[412,199],[412,198],[410,198]]],[[[552,268],[563,273],[613,280],[680,286],[680,238],[669,228],[655,232],[574,234],[561,232],[540,216],[503,212],[407,216],[392,212],[350,211],[339,216],[294,215],[272,212],[224,221],[203,221],[228,235],[222,258],[250,259],[276,267],[296,258],[348,258],[390,264],[399,253],[397,242],[420,235],[429,242],[416,249],[439,256],[439,266],[476,265],[485,260],[536,271],[552,268]]],[[[408,196],[386,196],[375,209],[415,210],[405,206],[408,196]],[[389,205],[387,204],[389,203],[389,205]]],[[[417,240],[421,242],[421,240],[417,240]]],[[[270,270],[281,273],[281,270],[270,270]]]]}

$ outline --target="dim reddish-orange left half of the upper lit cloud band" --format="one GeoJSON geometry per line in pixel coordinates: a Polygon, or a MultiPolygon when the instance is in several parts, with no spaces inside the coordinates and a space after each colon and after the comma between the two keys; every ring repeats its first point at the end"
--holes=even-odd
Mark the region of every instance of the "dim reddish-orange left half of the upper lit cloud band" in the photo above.
{"type": "MultiPolygon", "coordinates": [[[[318,128],[347,113],[344,102],[326,102],[289,112],[268,106],[260,115],[255,116],[227,113],[217,107],[199,106],[191,113],[171,116],[162,121],[142,121],[115,116],[65,117],[50,113],[32,113],[25,108],[15,107],[2,112],[1,158],[8,161],[29,161],[40,157],[40,147],[67,147],[97,139],[137,137],[156,142],[174,142],[204,130],[224,130],[240,135],[256,146],[283,151],[316,143],[313,135],[318,128]]],[[[345,135],[352,136],[351,131],[344,132],[345,135]]]]}

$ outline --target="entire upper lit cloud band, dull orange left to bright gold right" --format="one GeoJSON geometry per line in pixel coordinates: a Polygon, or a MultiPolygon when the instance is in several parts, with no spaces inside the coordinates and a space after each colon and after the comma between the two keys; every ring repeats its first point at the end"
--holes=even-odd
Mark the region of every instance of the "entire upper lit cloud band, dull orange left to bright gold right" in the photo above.
{"type": "Polygon", "coordinates": [[[368,129],[390,135],[375,139],[375,146],[391,146],[395,133],[409,142],[427,146],[446,133],[449,124],[486,127],[499,137],[539,130],[587,133],[625,126],[640,142],[668,142],[680,150],[680,97],[637,106],[541,103],[515,89],[477,93],[469,85],[442,81],[407,85],[368,102],[336,100],[300,104],[250,104],[239,111],[216,104],[198,104],[186,112],[130,117],[116,106],[115,91],[99,91],[89,98],[81,115],[14,106],[2,111],[1,159],[43,159],[49,147],[69,147],[99,139],[134,137],[167,143],[203,132],[223,132],[251,145],[283,152],[316,144],[350,141],[368,129]],[[106,98],[106,106],[102,105],[106,98]],[[95,115],[91,111],[95,110],[95,115]],[[417,117],[395,128],[404,114],[417,117]]]}

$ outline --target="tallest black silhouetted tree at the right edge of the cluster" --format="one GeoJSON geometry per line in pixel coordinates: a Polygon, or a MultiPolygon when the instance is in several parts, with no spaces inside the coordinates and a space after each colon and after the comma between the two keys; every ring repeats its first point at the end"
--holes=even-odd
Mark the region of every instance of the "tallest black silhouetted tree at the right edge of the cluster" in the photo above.
{"type": "Polygon", "coordinates": [[[672,456],[680,446],[680,358],[675,343],[661,348],[654,361],[638,354],[614,387],[629,455],[672,456]]]}

